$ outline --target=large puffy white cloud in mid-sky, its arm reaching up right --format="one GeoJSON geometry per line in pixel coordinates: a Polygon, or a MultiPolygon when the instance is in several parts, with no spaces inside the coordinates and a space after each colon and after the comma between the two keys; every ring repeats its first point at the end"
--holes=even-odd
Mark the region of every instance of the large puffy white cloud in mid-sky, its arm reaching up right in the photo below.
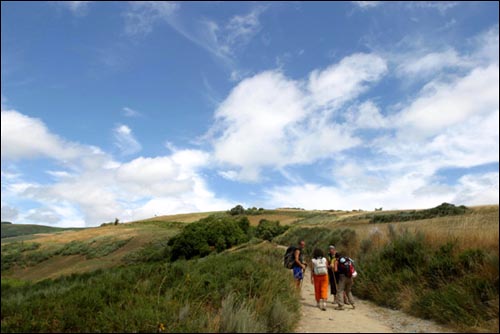
{"type": "Polygon", "coordinates": [[[222,176],[260,179],[261,169],[308,164],[359,145],[349,126],[332,113],[365,91],[385,73],[384,60],[355,54],[309,80],[295,81],[267,71],[241,81],[220,104],[211,130],[214,153],[222,164],[237,167],[222,176]]]}

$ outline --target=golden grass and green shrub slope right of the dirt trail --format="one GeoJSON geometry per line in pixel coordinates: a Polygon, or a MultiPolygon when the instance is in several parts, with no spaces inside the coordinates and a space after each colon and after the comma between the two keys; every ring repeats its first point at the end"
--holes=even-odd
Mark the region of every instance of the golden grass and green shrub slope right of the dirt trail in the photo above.
{"type": "Polygon", "coordinates": [[[498,332],[498,206],[462,215],[370,224],[366,215],[304,220],[277,237],[308,252],[335,244],[356,261],[353,293],[461,332],[498,332]]]}

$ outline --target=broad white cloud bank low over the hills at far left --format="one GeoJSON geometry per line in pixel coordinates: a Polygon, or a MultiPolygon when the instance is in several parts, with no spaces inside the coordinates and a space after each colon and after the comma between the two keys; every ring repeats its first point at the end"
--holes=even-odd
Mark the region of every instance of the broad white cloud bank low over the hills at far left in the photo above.
{"type": "MultiPolygon", "coordinates": [[[[133,138],[125,125],[115,132],[121,139],[133,138]]],[[[154,214],[225,210],[233,204],[218,198],[201,177],[200,169],[211,163],[207,152],[175,147],[171,151],[118,162],[97,147],[51,133],[41,120],[2,111],[2,166],[7,164],[2,170],[2,200],[8,199],[2,202],[2,215],[19,223],[96,226],[115,217],[129,221],[154,214]],[[11,161],[21,164],[36,157],[57,163],[57,170],[46,171],[52,180],[29,182],[22,172],[8,170],[11,161]],[[166,202],[171,204],[158,204],[166,202]]]]}

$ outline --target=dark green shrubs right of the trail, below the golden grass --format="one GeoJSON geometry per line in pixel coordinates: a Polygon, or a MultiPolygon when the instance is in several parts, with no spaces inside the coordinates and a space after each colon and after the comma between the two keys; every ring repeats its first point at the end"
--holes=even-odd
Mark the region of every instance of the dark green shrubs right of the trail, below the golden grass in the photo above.
{"type": "Polygon", "coordinates": [[[465,331],[495,321],[498,328],[498,254],[458,251],[453,241],[433,247],[422,234],[393,232],[384,247],[365,246],[356,269],[361,298],[465,331]]]}

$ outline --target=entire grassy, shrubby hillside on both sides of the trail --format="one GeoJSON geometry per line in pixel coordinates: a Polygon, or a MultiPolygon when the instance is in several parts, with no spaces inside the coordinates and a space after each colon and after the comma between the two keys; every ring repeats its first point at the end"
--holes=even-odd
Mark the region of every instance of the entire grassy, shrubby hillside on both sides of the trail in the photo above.
{"type": "Polygon", "coordinates": [[[308,254],[333,243],[355,259],[355,296],[457,331],[498,331],[497,205],[416,220],[411,210],[251,213],[246,222],[197,213],[4,242],[2,332],[290,331],[298,296],[273,244],[299,238],[308,254]],[[390,223],[371,223],[375,215],[390,223]]]}

